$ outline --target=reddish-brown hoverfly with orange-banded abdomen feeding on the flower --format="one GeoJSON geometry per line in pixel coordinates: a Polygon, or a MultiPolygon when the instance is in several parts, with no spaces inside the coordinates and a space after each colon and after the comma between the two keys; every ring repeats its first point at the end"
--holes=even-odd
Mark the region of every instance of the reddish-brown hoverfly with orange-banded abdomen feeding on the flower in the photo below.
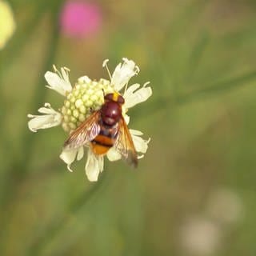
{"type": "Polygon", "coordinates": [[[94,111],[82,122],[64,143],[67,149],[90,144],[96,155],[105,155],[114,147],[131,166],[138,166],[138,156],[126,121],[122,117],[124,98],[118,94],[106,94],[100,110],[94,111]]]}

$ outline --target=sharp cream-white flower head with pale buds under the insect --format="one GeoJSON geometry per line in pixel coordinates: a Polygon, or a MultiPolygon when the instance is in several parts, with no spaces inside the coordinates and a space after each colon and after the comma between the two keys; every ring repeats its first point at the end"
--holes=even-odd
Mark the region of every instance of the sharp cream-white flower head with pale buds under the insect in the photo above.
{"type": "MultiPolygon", "coordinates": [[[[108,60],[103,62],[103,67],[110,74],[108,60]]],[[[59,72],[54,66],[53,72],[46,72],[45,78],[48,82],[46,87],[51,90],[56,90],[58,94],[65,96],[64,104],[59,111],[51,108],[49,103],[38,110],[42,115],[29,114],[31,118],[28,122],[29,129],[37,131],[38,129],[46,129],[53,126],[62,125],[63,130],[70,133],[82,124],[90,116],[92,111],[99,110],[104,103],[104,94],[118,92],[122,94],[125,103],[122,105],[122,116],[126,124],[130,122],[130,117],[126,114],[128,109],[137,105],[140,102],[145,102],[152,94],[152,89],[146,82],[144,86],[134,84],[128,87],[128,82],[135,74],[138,74],[138,66],[134,61],[123,58],[122,62],[115,68],[110,81],[101,78],[98,81],[92,81],[87,76],[78,78],[75,86],[72,87],[69,80],[69,71],[67,68],[62,68],[59,72]],[[123,93],[121,91],[123,90],[123,93]]],[[[139,130],[130,130],[132,140],[134,142],[135,150],[138,152],[138,158],[142,158],[146,153],[150,139],[143,139],[142,132],[139,130]]],[[[91,182],[98,180],[98,174],[103,170],[104,155],[95,155],[90,149],[87,152],[86,161],[86,175],[91,182]]],[[[84,146],[78,148],[64,147],[60,158],[66,163],[68,170],[71,170],[71,164],[77,159],[78,161],[83,158],[84,146]]],[[[121,158],[121,154],[111,147],[108,150],[106,157],[110,161],[117,161],[121,158]]]]}

